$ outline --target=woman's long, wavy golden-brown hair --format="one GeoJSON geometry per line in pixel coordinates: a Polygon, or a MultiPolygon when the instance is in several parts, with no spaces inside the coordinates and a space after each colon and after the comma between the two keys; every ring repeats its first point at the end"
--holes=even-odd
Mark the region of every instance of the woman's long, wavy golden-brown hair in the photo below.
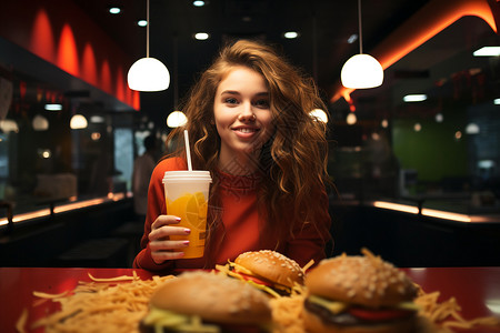
{"type": "MultiPolygon", "coordinates": [[[[318,191],[324,191],[328,142],[323,122],[313,119],[313,109],[326,110],[313,80],[291,65],[270,46],[239,40],[222,48],[214,62],[191,88],[181,109],[188,118],[182,128],[173,130],[168,140],[179,147],[169,157],[186,157],[183,130],[189,132],[192,167],[209,170],[214,176],[218,168],[220,137],[214,125],[216,91],[234,67],[247,67],[262,74],[269,89],[274,132],[263,145],[257,163],[264,180],[259,193],[259,213],[268,221],[277,240],[293,236],[296,223],[321,221],[324,209],[318,209],[318,191]],[[284,215],[283,215],[284,214],[284,215]]],[[[211,188],[210,206],[217,208],[217,185],[211,188]]],[[[327,203],[328,204],[328,203],[327,203]]],[[[213,218],[217,220],[217,216],[213,218]]],[[[210,222],[209,222],[210,224],[210,222]]],[[[213,222],[212,222],[213,224],[213,222]]]]}

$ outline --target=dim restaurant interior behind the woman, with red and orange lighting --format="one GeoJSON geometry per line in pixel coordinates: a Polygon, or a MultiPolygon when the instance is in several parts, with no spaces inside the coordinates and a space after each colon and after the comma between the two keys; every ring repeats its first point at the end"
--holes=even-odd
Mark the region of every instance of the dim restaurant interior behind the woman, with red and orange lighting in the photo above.
{"type": "MultiPolygon", "coordinates": [[[[169,115],[236,39],[277,46],[328,105],[330,256],[364,246],[402,268],[500,265],[500,2],[0,9],[0,266],[130,266],[143,223],[131,194],[143,139],[166,143],[169,115]],[[496,53],[480,53],[486,47],[496,53]],[[342,85],[358,53],[380,62],[381,85],[342,85]],[[128,71],[144,57],[168,68],[168,89],[129,89],[128,71]]],[[[167,152],[162,144],[158,158],[167,152]]]]}

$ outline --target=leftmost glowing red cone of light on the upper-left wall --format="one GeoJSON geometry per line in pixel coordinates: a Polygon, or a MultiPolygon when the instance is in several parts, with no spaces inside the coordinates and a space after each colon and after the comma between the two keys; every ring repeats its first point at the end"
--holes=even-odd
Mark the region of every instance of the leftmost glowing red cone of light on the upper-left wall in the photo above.
{"type": "Polygon", "coordinates": [[[30,33],[30,48],[33,53],[47,61],[54,58],[53,31],[44,9],[40,9],[34,18],[30,33]]]}

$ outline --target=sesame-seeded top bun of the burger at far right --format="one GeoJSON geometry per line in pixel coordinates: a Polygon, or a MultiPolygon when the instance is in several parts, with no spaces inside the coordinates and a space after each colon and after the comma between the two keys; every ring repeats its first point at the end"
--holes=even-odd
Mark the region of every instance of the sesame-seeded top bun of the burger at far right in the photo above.
{"type": "Polygon", "coordinates": [[[306,278],[309,293],[367,307],[392,306],[416,297],[417,287],[402,271],[366,254],[321,261],[306,278]]]}

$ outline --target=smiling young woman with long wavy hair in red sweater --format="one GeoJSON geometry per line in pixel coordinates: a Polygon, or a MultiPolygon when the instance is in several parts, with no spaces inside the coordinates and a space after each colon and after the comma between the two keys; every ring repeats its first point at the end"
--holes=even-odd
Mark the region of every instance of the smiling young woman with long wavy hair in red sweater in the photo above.
{"type": "MultiPolygon", "coordinates": [[[[188,169],[181,144],[151,176],[134,268],[211,269],[264,249],[301,266],[323,259],[331,238],[326,127],[309,115],[317,108],[326,107],[313,81],[270,47],[241,40],[222,49],[182,108],[193,170],[212,176],[204,256],[182,259],[172,250],[187,244],[169,239],[189,233],[166,214],[162,184],[166,171],[188,169]]],[[[182,143],[183,130],[170,140],[182,143]]]]}

